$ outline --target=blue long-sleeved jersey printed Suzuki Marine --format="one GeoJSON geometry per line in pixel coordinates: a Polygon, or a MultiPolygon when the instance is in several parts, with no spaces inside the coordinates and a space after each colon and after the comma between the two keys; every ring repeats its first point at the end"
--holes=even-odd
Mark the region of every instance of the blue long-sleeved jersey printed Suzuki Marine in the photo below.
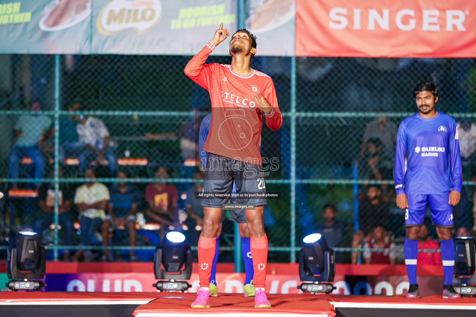
{"type": "Polygon", "coordinates": [[[402,121],[397,134],[394,178],[397,194],[461,191],[458,129],[452,116],[438,112],[425,119],[415,114],[402,121]]]}

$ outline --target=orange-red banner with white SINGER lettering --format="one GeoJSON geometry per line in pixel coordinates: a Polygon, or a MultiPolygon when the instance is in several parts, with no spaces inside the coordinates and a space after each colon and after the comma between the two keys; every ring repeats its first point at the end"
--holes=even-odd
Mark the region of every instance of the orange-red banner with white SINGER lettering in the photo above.
{"type": "Polygon", "coordinates": [[[476,1],[297,0],[296,56],[476,57],[476,1]]]}

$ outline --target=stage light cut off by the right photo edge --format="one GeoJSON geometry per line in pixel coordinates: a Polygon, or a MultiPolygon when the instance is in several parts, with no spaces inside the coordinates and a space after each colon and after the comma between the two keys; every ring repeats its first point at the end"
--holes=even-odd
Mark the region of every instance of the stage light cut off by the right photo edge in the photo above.
{"type": "Polygon", "coordinates": [[[473,237],[455,238],[453,288],[461,295],[476,295],[476,255],[473,237]]]}

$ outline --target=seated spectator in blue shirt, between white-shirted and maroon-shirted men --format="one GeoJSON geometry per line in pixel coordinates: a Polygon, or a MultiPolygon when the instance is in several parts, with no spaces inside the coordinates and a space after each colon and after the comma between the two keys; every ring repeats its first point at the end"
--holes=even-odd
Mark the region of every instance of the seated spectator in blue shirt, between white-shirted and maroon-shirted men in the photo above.
{"type": "MultiPolygon", "coordinates": [[[[119,171],[117,178],[127,178],[126,172],[119,171]]],[[[136,245],[136,211],[139,204],[139,189],[134,184],[119,182],[109,187],[108,210],[109,214],[104,219],[102,226],[102,242],[105,247],[109,242],[109,231],[114,229],[129,231],[129,244],[131,247],[136,245]]],[[[137,261],[134,250],[130,250],[130,260],[137,261]]],[[[109,250],[104,249],[102,260],[109,258],[109,250]]]]}

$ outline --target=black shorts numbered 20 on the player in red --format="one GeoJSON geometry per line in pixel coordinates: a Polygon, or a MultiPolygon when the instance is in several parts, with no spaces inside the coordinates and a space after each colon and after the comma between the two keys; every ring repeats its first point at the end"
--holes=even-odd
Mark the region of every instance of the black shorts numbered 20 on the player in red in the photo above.
{"type": "MultiPolygon", "coordinates": [[[[232,199],[232,203],[246,203],[261,206],[266,204],[266,185],[263,167],[258,164],[244,163],[225,156],[208,153],[207,169],[203,181],[203,192],[213,194],[231,193],[233,181],[236,192],[247,194],[250,197],[232,199]],[[261,197],[253,197],[259,194],[261,197]]],[[[201,205],[205,207],[221,208],[222,204],[229,203],[230,197],[207,197],[202,199],[201,205]]]]}

